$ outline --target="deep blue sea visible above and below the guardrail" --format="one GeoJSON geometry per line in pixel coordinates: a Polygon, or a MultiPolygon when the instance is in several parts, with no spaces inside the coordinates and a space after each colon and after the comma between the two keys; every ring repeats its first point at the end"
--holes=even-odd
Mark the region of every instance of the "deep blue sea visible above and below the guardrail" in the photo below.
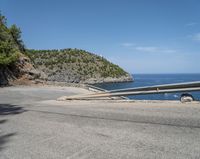
{"type": "MultiPolygon", "coordinates": [[[[115,90],[122,88],[134,88],[134,87],[153,86],[160,84],[193,82],[193,81],[200,81],[200,74],[134,74],[133,78],[134,78],[133,82],[102,83],[102,84],[95,84],[95,86],[106,90],[115,90]]],[[[187,93],[190,93],[195,100],[200,100],[200,91],[187,92],[187,93]]],[[[181,94],[182,93],[134,95],[134,96],[128,96],[128,98],[137,100],[179,100],[181,94]]]]}

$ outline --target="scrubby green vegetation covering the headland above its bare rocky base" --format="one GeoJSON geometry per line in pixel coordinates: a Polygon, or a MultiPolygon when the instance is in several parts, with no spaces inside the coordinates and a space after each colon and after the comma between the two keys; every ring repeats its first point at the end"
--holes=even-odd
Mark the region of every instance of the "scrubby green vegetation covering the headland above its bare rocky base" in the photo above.
{"type": "Polygon", "coordinates": [[[28,50],[29,57],[45,73],[65,71],[87,78],[121,77],[127,73],[105,58],[79,49],[28,50]]]}

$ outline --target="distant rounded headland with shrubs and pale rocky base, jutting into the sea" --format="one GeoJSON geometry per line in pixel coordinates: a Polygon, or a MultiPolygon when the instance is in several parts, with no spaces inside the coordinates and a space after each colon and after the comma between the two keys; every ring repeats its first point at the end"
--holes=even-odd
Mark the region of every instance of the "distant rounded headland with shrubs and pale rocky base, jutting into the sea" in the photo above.
{"type": "Polygon", "coordinates": [[[100,83],[132,80],[119,66],[84,50],[28,50],[28,55],[48,81],[100,83]]]}

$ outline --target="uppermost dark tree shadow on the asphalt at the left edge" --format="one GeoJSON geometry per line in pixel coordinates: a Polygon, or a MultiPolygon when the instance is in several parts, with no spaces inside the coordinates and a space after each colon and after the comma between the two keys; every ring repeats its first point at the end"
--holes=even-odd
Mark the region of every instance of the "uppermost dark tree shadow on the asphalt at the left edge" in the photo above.
{"type": "Polygon", "coordinates": [[[0,115],[15,115],[25,112],[23,107],[11,104],[0,104],[0,115]]]}

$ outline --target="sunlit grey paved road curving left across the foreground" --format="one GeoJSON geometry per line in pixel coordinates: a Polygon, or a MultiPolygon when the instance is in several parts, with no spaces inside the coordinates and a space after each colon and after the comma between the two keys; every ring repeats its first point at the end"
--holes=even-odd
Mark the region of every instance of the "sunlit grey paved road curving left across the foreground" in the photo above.
{"type": "Polygon", "coordinates": [[[55,101],[76,88],[0,88],[0,159],[199,159],[200,104],[55,101]]]}

